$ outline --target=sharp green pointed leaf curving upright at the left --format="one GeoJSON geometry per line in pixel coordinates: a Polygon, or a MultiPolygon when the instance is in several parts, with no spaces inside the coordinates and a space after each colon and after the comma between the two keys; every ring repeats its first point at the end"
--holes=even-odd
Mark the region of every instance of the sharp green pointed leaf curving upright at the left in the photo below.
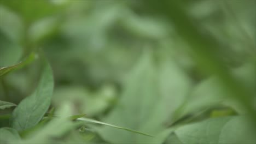
{"type": "Polygon", "coordinates": [[[44,62],[38,87],[16,107],[11,125],[17,130],[26,130],[36,125],[49,109],[53,94],[53,74],[48,62],[44,62]]]}

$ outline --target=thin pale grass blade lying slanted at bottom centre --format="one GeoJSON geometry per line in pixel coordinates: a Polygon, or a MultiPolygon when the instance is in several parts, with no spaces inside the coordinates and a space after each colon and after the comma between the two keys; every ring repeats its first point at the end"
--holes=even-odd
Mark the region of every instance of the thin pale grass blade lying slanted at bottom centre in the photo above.
{"type": "Polygon", "coordinates": [[[113,127],[113,128],[117,128],[117,129],[122,129],[122,130],[127,130],[127,131],[131,131],[132,133],[137,133],[137,134],[141,134],[141,135],[153,137],[153,136],[151,136],[151,135],[144,134],[144,133],[139,132],[139,131],[136,131],[136,130],[131,130],[131,129],[119,127],[119,126],[117,126],[117,125],[113,125],[113,124],[108,124],[108,123],[96,121],[96,120],[90,119],[90,118],[81,117],[81,118],[78,118],[77,120],[85,121],[85,122],[91,122],[91,123],[97,123],[97,124],[102,124],[102,125],[107,125],[107,126],[109,126],[109,127],[113,127]]]}

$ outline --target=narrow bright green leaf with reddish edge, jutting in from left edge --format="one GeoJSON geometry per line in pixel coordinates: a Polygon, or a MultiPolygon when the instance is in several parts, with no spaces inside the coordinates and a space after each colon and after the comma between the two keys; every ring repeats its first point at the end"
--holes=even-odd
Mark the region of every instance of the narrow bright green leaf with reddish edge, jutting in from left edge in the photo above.
{"type": "Polygon", "coordinates": [[[28,56],[28,58],[25,61],[23,61],[23,62],[20,62],[20,63],[18,63],[16,65],[13,65],[13,66],[10,66],[10,67],[2,67],[2,68],[0,68],[0,77],[3,76],[4,74],[9,73],[11,70],[19,69],[19,68],[24,67],[25,65],[27,65],[30,62],[32,62],[33,60],[34,60],[34,53],[31,53],[31,55],[28,56]]]}

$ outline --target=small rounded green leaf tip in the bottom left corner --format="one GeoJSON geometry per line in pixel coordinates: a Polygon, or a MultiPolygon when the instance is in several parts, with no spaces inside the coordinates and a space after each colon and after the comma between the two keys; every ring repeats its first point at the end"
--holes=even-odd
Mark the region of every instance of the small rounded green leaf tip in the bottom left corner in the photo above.
{"type": "Polygon", "coordinates": [[[20,136],[17,130],[13,128],[0,129],[0,143],[8,143],[14,140],[20,140],[20,136]]]}

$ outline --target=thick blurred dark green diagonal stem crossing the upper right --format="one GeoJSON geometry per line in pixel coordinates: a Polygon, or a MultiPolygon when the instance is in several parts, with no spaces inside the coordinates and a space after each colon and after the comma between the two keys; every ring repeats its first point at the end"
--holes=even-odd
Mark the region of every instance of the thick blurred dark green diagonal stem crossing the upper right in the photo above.
{"type": "MultiPolygon", "coordinates": [[[[220,45],[213,35],[206,35],[202,28],[195,25],[198,21],[185,11],[183,5],[186,3],[177,0],[165,0],[161,3],[153,0],[144,1],[149,9],[166,16],[173,23],[177,32],[192,48],[191,56],[201,70],[207,74],[216,75],[220,84],[230,93],[228,96],[240,103],[251,113],[250,116],[254,119],[253,121],[256,121],[254,104],[251,100],[254,93],[247,91],[247,88],[231,74],[226,63],[219,58],[221,51],[217,48],[224,46],[220,45]]],[[[256,124],[254,127],[256,128],[256,124]]]]}

